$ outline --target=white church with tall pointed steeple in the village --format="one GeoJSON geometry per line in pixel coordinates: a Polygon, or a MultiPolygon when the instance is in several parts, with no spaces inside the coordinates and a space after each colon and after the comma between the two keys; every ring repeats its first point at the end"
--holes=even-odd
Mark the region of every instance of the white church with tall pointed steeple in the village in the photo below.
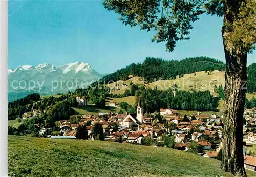
{"type": "Polygon", "coordinates": [[[127,127],[129,129],[136,131],[139,129],[139,126],[143,123],[144,123],[143,109],[142,109],[141,101],[140,101],[140,97],[139,97],[136,114],[129,114],[126,118],[124,118],[121,122],[121,126],[127,127]]]}

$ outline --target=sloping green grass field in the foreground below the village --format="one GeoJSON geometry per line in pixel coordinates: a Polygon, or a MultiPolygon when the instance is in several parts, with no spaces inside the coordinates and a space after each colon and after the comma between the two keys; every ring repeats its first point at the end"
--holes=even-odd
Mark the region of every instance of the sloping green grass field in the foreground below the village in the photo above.
{"type": "Polygon", "coordinates": [[[8,176],[232,176],[219,166],[168,148],[8,136],[8,176]]]}

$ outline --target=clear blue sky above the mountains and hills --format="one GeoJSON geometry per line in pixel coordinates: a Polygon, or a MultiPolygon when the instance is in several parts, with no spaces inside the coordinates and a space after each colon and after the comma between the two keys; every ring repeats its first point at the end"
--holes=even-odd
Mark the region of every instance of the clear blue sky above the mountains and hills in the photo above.
{"type": "MultiPolygon", "coordinates": [[[[181,60],[208,56],[225,61],[222,18],[201,15],[190,40],[179,41],[173,52],[151,42],[154,31],[125,26],[119,15],[91,1],[9,1],[8,68],[49,62],[89,63],[101,74],[112,73],[146,57],[181,60]]],[[[256,52],[248,55],[256,62],[256,52]]]]}

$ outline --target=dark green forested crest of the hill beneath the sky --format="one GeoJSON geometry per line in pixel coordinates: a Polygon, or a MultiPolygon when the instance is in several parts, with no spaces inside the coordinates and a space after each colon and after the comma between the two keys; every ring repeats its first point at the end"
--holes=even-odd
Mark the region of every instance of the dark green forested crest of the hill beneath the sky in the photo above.
{"type": "Polygon", "coordinates": [[[126,68],[106,75],[103,81],[127,80],[129,75],[143,77],[147,82],[154,79],[174,79],[177,75],[194,73],[197,71],[225,70],[225,64],[209,57],[186,58],[181,61],[166,61],[160,58],[147,57],[142,64],[132,63],[126,68]]]}

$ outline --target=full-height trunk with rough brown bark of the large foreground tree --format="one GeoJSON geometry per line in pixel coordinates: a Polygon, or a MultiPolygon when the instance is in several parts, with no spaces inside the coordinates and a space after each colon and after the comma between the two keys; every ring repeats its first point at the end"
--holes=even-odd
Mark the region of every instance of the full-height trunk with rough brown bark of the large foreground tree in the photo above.
{"type": "Polygon", "coordinates": [[[221,168],[236,176],[246,176],[243,154],[243,112],[246,94],[247,52],[243,46],[232,46],[226,35],[239,13],[242,1],[224,0],[224,26],[222,37],[226,58],[224,132],[221,168]]]}

